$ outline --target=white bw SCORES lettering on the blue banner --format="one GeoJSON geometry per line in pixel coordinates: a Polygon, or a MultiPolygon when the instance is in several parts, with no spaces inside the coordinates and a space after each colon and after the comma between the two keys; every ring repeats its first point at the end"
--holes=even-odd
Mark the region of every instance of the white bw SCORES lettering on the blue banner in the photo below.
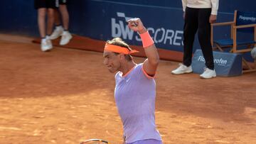
{"type": "MultiPolygon", "coordinates": [[[[138,35],[134,36],[134,31],[130,30],[127,26],[127,21],[130,17],[125,16],[125,13],[117,12],[117,18],[111,18],[112,37],[123,38],[124,40],[132,40],[135,38],[137,41],[142,41],[138,35]],[[125,21],[124,21],[125,20],[125,21]]],[[[154,43],[163,43],[164,45],[183,45],[182,35],[183,31],[171,30],[166,28],[147,28],[154,43]]]]}

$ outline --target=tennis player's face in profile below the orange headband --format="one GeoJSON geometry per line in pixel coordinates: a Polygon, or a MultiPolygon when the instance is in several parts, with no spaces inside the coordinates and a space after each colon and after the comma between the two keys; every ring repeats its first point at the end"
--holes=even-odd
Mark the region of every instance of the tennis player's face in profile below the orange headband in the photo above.
{"type": "Polygon", "coordinates": [[[107,66],[107,69],[110,72],[114,73],[117,72],[117,70],[119,70],[119,68],[121,67],[119,55],[115,54],[114,52],[104,51],[103,57],[103,63],[107,66]]]}

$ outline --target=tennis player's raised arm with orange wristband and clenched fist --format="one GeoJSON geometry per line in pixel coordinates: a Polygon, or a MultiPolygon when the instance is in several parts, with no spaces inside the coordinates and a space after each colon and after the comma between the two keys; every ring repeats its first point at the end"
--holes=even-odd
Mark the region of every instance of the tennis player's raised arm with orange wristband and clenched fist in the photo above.
{"type": "Polygon", "coordinates": [[[128,26],[133,31],[139,32],[142,38],[143,48],[146,53],[147,59],[143,63],[143,69],[146,74],[154,76],[156,74],[156,68],[159,64],[159,54],[154,45],[154,41],[149,35],[149,32],[143,26],[142,21],[139,18],[132,18],[128,21],[128,26]]]}

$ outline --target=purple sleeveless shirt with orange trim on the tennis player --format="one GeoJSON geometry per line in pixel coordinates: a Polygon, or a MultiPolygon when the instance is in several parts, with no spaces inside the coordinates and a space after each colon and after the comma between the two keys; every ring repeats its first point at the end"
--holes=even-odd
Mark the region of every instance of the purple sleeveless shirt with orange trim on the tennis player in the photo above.
{"type": "Polygon", "coordinates": [[[156,82],[136,65],[124,77],[115,75],[114,99],[122,119],[126,143],[138,140],[161,140],[155,124],[156,82]]]}

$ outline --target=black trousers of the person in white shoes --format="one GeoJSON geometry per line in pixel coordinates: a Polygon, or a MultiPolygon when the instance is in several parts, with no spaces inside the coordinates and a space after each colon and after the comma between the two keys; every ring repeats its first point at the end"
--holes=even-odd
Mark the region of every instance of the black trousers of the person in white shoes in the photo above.
{"type": "Polygon", "coordinates": [[[183,29],[183,65],[187,67],[192,62],[193,42],[196,31],[198,40],[206,60],[206,67],[214,70],[213,48],[210,43],[210,13],[211,9],[194,9],[186,7],[185,24],[183,29]]]}

